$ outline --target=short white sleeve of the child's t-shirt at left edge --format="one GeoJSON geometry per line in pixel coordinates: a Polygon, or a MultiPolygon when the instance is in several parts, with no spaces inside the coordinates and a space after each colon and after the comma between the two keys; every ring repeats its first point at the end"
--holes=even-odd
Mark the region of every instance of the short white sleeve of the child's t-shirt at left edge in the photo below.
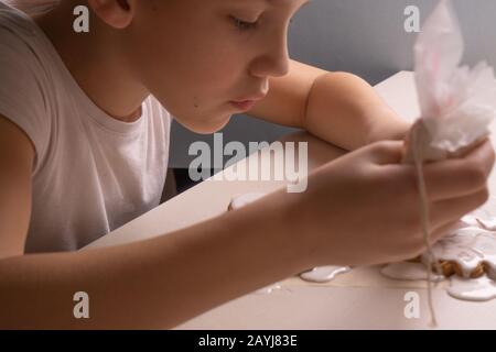
{"type": "Polygon", "coordinates": [[[35,174],[45,158],[51,130],[43,66],[33,47],[1,23],[0,53],[0,114],[30,138],[35,174]]]}

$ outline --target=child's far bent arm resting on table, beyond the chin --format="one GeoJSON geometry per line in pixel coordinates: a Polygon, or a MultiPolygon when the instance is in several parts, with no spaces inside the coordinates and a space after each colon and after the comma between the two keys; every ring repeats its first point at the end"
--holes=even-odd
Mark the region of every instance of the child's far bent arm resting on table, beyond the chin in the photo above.
{"type": "Polygon", "coordinates": [[[380,140],[401,140],[411,125],[364,79],[295,61],[290,62],[288,75],[270,79],[269,95],[248,113],[304,129],[348,151],[380,140]]]}

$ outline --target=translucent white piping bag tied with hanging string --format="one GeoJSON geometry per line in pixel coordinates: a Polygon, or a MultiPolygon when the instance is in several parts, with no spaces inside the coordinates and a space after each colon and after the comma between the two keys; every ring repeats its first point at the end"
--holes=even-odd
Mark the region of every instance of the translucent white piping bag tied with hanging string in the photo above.
{"type": "Polygon", "coordinates": [[[422,164],[459,157],[489,135],[496,117],[494,69],[485,62],[460,66],[464,42],[451,0],[440,0],[423,24],[414,45],[414,79],[421,117],[405,140],[402,163],[414,164],[420,195],[420,219],[427,252],[431,324],[436,326],[431,271],[441,273],[431,249],[429,207],[422,164]],[[434,264],[434,265],[433,265],[434,264]]]}

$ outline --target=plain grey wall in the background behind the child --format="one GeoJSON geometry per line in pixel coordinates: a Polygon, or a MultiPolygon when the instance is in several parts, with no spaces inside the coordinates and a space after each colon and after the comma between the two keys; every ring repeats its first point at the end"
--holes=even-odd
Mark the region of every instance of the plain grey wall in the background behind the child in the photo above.
{"type": "MultiPolygon", "coordinates": [[[[403,29],[408,6],[420,9],[421,21],[434,0],[313,0],[294,18],[289,34],[292,58],[327,70],[351,72],[375,85],[398,70],[412,69],[416,33],[403,29]]],[[[465,36],[465,63],[486,59],[496,66],[496,0],[454,0],[465,36]]],[[[273,141],[290,129],[235,116],[222,131],[227,141],[273,141]]],[[[194,141],[212,142],[174,122],[171,167],[187,167],[194,141]]]]}

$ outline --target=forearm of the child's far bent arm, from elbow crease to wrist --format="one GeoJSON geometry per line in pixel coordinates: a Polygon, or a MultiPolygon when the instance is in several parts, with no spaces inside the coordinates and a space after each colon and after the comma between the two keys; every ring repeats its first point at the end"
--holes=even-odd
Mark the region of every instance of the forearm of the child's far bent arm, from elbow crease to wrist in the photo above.
{"type": "Polygon", "coordinates": [[[309,95],[305,129],[347,151],[380,140],[402,140],[410,125],[369,84],[352,74],[325,74],[309,95]]]}

